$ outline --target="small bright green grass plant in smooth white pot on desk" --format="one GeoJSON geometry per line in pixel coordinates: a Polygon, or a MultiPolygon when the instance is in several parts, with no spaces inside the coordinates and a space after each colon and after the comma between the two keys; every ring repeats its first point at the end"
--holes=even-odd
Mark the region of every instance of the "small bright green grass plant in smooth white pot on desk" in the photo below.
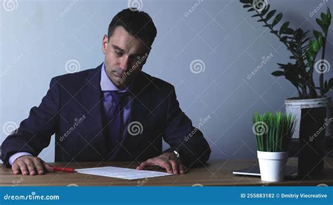
{"type": "Polygon", "coordinates": [[[295,115],[280,112],[252,116],[261,181],[282,181],[285,177],[289,143],[296,121],[295,115]]]}

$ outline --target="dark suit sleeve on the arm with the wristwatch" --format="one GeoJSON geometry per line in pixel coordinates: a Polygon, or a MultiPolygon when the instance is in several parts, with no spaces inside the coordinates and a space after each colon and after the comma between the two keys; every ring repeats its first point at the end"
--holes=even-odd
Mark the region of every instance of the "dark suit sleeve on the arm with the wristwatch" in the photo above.
{"type": "Polygon", "coordinates": [[[168,101],[163,138],[166,143],[169,143],[170,148],[164,150],[164,153],[178,151],[186,167],[207,162],[211,154],[209,144],[204,139],[202,132],[193,127],[190,118],[181,111],[174,86],[172,86],[168,101]]]}

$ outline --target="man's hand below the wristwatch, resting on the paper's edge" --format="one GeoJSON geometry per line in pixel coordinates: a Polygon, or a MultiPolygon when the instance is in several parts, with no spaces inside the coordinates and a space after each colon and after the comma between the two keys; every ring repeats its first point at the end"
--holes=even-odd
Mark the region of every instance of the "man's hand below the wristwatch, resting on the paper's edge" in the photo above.
{"type": "Polygon", "coordinates": [[[185,174],[186,167],[174,153],[163,153],[158,157],[150,158],[142,162],[136,169],[148,169],[150,167],[162,167],[169,174],[185,174]]]}

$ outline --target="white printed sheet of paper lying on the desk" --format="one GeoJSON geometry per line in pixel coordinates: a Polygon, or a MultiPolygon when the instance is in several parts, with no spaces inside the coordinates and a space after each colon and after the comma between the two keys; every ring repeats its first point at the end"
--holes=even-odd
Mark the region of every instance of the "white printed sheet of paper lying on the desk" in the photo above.
{"type": "Polygon", "coordinates": [[[160,171],[136,170],[136,169],[121,168],[121,167],[96,167],[96,168],[87,168],[87,169],[75,169],[75,171],[81,174],[92,174],[98,176],[124,178],[129,180],[137,178],[150,178],[157,176],[173,175],[160,171]]]}

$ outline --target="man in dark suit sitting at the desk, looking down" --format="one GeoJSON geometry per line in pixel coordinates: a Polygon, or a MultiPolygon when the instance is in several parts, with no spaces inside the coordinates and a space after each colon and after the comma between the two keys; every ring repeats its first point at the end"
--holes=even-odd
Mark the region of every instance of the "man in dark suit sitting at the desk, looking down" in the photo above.
{"type": "Polygon", "coordinates": [[[44,174],[39,157],[55,133],[55,162],[132,161],[183,174],[209,159],[199,129],[181,111],[174,86],[141,71],[157,30],[142,11],[119,12],[103,36],[96,69],[52,78],[38,107],[2,144],[14,174],[44,174]],[[162,139],[170,148],[162,152],[162,139]]]}

